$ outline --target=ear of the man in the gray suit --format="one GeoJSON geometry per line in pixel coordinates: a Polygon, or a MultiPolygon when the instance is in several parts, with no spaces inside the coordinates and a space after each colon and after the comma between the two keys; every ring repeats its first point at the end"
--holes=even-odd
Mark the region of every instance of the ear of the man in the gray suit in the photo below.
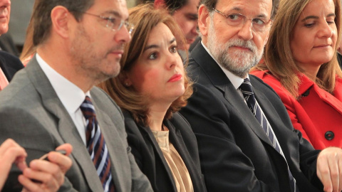
{"type": "Polygon", "coordinates": [[[68,38],[68,22],[70,22],[71,17],[73,15],[64,6],[56,6],[53,8],[51,11],[53,31],[63,38],[68,38]]]}

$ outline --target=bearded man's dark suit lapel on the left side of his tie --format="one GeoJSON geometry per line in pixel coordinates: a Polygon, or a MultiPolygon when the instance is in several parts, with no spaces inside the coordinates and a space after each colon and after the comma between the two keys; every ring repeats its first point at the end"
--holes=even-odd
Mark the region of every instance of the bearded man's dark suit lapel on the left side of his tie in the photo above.
{"type": "Polygon", "coordinates": [[[192,54],[192,58],[202,68],[202,71],[207,75],[212,82],[212,85],[224,94],[224,98],[229,105],[234,107],[234,112],[239,113],[237,117],[245,117],[244,122],[248,124],[248,127],[252,129],[262,141],[273,147],[269,137],[267,137],[264,132],[264,129],[262,129],[258,120],[254,117],[251,110],[249,110],[249,107],[244,102],[242,96],[239,95],[234,85],[232,85],[232,82],[227,78],[227,75],[224,74],[218,64],[214,65],[216,61],[207,53],[207,50],[204,49],[202,44],[197,44],[195,49],[199,50],[192,51],[192,53],[194,53],[192,54]]]}

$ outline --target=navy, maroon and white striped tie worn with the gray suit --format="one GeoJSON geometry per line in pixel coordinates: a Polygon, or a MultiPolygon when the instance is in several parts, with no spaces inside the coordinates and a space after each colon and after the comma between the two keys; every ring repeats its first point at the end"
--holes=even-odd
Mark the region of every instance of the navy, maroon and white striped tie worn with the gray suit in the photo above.
{"type": "Polygon", "coordinates": [[[93,160],[98,176],[103,186],[103,191],[114,191],[114,183],[110,171],[110,157],[105,139],[101,134],[98,121],[96,119],[95,108],[86,96],[86,100],[81,104],[81,111],[86,118],[86,146],[93,160]]]}

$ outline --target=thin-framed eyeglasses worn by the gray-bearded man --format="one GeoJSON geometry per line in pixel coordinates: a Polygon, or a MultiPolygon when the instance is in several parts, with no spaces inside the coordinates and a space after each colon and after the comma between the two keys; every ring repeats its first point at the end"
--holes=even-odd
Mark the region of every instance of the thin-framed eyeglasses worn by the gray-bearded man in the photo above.
{"type": "Polygon", "coordinates": [[[247,20],[252,21],[252,29],[255,32],[264,32],[268,30],[273,21],[271,19],[266,19],[266,18],[247,18],[247,16],[244,16],[243,14],[223,14],[221,11],[218,11],[217,9],[212,9],[219,13],[220,15],[224,16],[227,18],[227,24],[229,26],[244,26],[244,23],[246,23],[247,20]]]}

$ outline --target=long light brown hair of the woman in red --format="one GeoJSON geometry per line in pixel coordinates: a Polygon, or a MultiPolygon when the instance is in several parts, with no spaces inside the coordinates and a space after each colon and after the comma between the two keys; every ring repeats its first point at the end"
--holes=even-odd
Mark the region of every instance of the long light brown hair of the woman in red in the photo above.
{"type": "MultiPolygon", "coordinates": [[[[264,63],[257,65],[252,70],[269,70],[296,99],[299,99],[298,87],[300,80],[298,73],[304,73],[296,65],[291,52],[290,41],[294,35],[294,26],[299,16],[311,0],[281,0],[279,9],[269,33],[269,41],[266,43],[264,63]]],[[[333,0],[335,4],[335,23],[338,38],[335,50],[341,39],[341,0],[333,0]]],[[[327,92],[333,93],[336,75],[341,78],[342,71],[338,65],[336,53],[328,63],[323,63],[318,70],[316,84],[327,92]]]]}

